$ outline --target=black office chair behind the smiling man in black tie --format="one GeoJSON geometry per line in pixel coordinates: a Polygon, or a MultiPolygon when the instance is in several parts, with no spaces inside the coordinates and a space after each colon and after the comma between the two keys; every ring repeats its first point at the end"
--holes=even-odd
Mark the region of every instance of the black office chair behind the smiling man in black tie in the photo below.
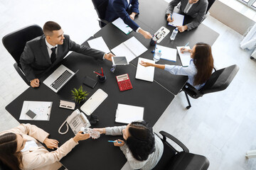
{"type": "Polygon", "coordinates": [[[14,60],[16,61],[14,63],[14,68],[21,76],[23,81],[28,84],[28,86],[30,86],[30,83],[26,79],[25,74],[23,74],[19,60],[26,45],[26,42],[29,40],[33,40],[33,38],[36,38],[40,35],[43,35],[42,28],[38,25],[32,25],[9,33],[5,35],[2,39],[4,47],[6,47],[6,50],[11,54],[12,57],[14,57],[14,60]]]}

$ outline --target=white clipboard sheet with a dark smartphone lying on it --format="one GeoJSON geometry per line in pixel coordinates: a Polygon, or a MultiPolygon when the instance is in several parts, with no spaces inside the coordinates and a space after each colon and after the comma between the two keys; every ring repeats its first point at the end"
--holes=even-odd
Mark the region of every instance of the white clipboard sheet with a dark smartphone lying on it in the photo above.
{"type": "Polygon", "coordinates": [[[24,101],[19,120],[50,120],[50,110],[53,105],[51,101],[24,101]],[[36,118],[29,118],[28,110],[36,113],[36,118]]]}

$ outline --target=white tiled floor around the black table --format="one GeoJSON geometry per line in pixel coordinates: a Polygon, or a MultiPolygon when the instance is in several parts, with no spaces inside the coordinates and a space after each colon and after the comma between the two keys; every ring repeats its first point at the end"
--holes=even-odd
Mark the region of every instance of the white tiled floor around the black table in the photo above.
{"type": "MultiPolygon", "coordinates": [[[[28,24],[43,26],[51,20],[60,23],[72,40],[82,43],[100,29],[96,18],[91,1],[1,0],[0,38],[28,24]]],[[[213,45],[215,67],[238,64],[240,71],[225,91],[191,99],[189,110],[184,94],[178,94],[154,130],[165,130],[191,152],[208,157],[210,170],[256,169],[256,159],[245,158],[247,150],[256,149],[256,60],[250,60],[251,51],[240,50],[242,35],[210,16],[203,23],[220,33],[213,45]]],[[[0,52],[0,130],[6,130],[18,122],[5,106],[28,86],[16,73],[14,60],[2,44],[0,52]]]]}

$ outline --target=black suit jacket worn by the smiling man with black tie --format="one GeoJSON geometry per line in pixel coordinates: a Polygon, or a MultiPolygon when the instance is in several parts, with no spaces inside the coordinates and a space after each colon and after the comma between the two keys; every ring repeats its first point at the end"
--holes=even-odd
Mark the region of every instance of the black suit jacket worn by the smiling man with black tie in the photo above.
{"type": "Polygon", "coordinates": [[[53,63],[50,62],[45,35],[26,42],[26,46],[21,54],[20,63],[28,81],[41,77],[44,72],[47,72],[61,62],[69,51],[79,52],[83,55],[103,60],[105,52],[92,49],[85,45],[78,45],[70,40],[69,35],[64,35],[64,37],[63,45],[58,45],[57,57],[53,63]]]}

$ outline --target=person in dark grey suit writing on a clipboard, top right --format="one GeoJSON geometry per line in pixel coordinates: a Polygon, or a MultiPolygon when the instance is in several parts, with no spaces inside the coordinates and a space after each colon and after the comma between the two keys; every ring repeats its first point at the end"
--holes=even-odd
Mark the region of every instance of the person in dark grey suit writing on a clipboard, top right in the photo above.
{"type": "Polygon", "coordinates": [[[172,0],[166,9],[167,21],[169,22],[172,22],[175,19],[171,17],[171,14],[174,12],[175,6],[177,6],[186,15],[194,18],[191,23],[188,23],[185,26],[177,26],[178,30],[182,33],[184,30],[192,30],[193,28],[198,27],[202,23],[203,18],[205,18],[206,16],[208,1],[207,0],[172,0]],[[181,4],[178,4],[179,2],[181,2],[181,4]]]}

